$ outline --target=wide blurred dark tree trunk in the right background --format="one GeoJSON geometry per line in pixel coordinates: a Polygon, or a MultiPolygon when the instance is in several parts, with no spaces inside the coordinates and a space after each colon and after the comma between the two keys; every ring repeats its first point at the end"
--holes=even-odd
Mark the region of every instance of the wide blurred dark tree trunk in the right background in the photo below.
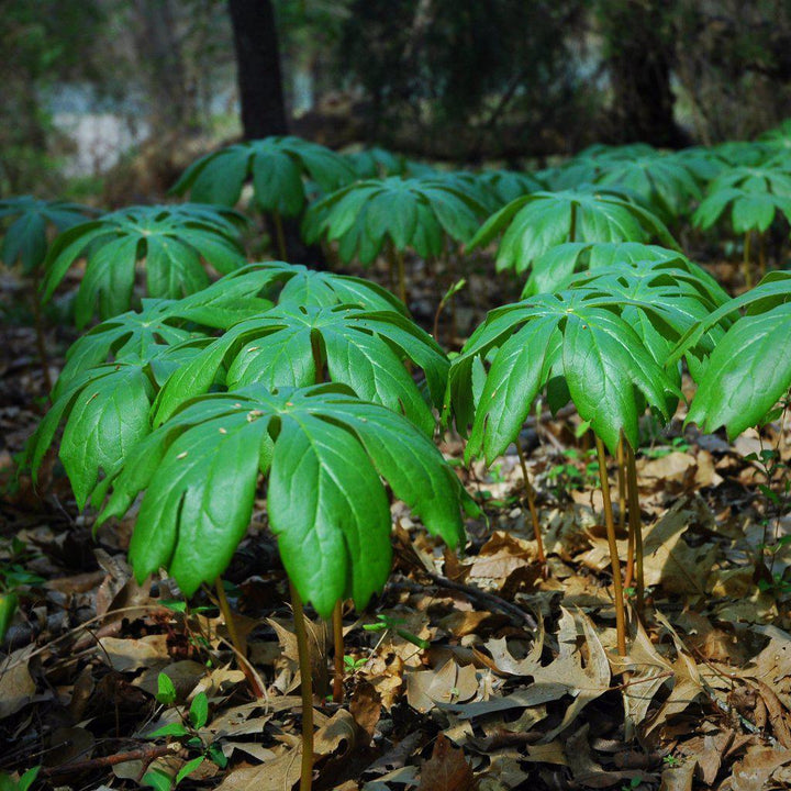
{"type": "Polygon", "coordinates": [[[608,66],[613,88],[612,137],[679,148],[689,140],[673,119],[673,37],[666,0],[604,2],[608,66]]]}

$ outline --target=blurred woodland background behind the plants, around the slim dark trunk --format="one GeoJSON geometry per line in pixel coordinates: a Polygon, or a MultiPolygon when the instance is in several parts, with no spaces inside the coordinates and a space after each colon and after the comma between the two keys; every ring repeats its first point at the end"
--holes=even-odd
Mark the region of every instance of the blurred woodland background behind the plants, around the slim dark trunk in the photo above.
{"type": "MultiPolygon", "coordinates": [[[[521,169],[597,141],[754,137],[791,115],[788,0],[274,5],[292,132],[333,147],[521,169]]],[[[14,122],[0,130],[2,194],[63,193],[75,143],[53,108],[70,93],[77,113],[112,113],[133,140],[149,135],[140,156],[121,152],[122,165],[141,160],[121,179],[135,200],[172,182],[185,147],[190,159],[238,134],[223,0],[5,0],[3,23],[0,107],[14,122]]],[[[102,167],[71,194],[100,187],[102,167]]]]}

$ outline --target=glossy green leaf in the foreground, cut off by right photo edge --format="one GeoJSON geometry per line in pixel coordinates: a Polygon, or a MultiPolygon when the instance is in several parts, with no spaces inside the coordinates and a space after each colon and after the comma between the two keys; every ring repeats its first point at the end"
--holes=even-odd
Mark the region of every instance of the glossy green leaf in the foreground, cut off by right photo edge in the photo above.
{"type": "Polygon", "coordinates": [[[791,388],[791,301],[738,319],[697,380],[688,423],[729,439],[757,425],[791,388]]]}

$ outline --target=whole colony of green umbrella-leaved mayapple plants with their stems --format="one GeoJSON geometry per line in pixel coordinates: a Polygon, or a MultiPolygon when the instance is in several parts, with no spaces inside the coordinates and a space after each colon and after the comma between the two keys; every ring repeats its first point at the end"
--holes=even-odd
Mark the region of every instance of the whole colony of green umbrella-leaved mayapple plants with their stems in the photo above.
{"type": "MultiPolygon", "coordinates": [[[[174,191],[189,192],[194,202],[105,214],[29,197],[0,203],[0,216],[14,218],[2,258],[8,267],[21,264],[31,279],[45,377],[47,305],[63,301],[69,280],[79,282],[66,309],[85,331],[54,385],[44,380],[48,408],[19,471],[38,484],[46,468],[48,480],[57,454],[76,512],[97,530],[131,527],[129,558],[138,584],[151,576],[170,580],[186,600],[213,587],[254,699],[268,694],[267,684],[247,656],[223,576],[264,514],[293,613],[302,791],[316,777],[314,709],[343,705],[349,667],[356,667],[344,648],[358,627],[348,616],[366,611],[399,562],[393,520],[399,552],[408,550],[404,536],[419,531],[403,528],[406,514],[441,539],[450,576],[447,569],[460,562],[453,553],[480,548],[465,530],[466,521],[476,530],[484,524],[486,503],[466,486],[469,475],[497,468],[513,448],[535,577],[553,581],[558,542],[545,544],[546,497],[531,471],[527,431],[544,409],[575,415],[580,445],[595,456],[594,516],[606,543],[614,635],[598,636],[581,611],[523,609],[519,631],[527,656],[511,656],[503,638],[499,657],[476,647],[466,661],[494,667],[505,657],[509,667],[550,688],[542,651],[545,660],[555,650],[571,662],[575,640],[590,640],[584,672],[611,661],[619,680],[609,687],[608,668],[604,687],[623,692],[627,733],[645,740],[667,701],[682,714],[681,670],[668,664],[645,678],[640,664],[657,624],[668,640],[677,637],[651,606],[657,582],[646,576],[643,534],[654,514],[640,503],[637,461],[646,426],[661,432],[680,416],[704,432],[724,426],[734,441],[784,414],[791,388],[791,274],[780,268],[791,216],[788,138],[679,153],[595,146],[527,174],[436,170],[382,149],[343,155],[272,137],[199,159],[174,191]],[[247,183],[246,208],[266,215],[272,257],[280,260],[248,261],[244,239],[256,218],[237,208],[247,183]],[[321,243],[336,265],[370,267],[383,258],[398,297],[375,277],[287,263],[283,218],[298,219],[305,242],[321,243]],[[682,252],[716,244],[715,227],[729,235],[727,254],[742,266],[736,297],[682,252]],[[464,343],[444,348],[410,311],[408,270],[420,263],[427,277],[442,267],[449,283],[475,276],[487,256],[521,297],[494,307],[464,343]],[[754,278],[760,282],[751,288],[754,278]],[[464,441],[463,458],[443,453],[448,437],[464,441]],[[328,662],[320,667],[311,614],[333,636],[330,703],[320,683],[328,662]],[[535,630],[525,631],[534,620],[535,630]],[[552,646],[545,626],[559,628],[552,646]],[[601,645],[599,654],[590,647],[605,637],[610,659],[601,645]],[[644,709],[630,687],[636,682],[645,684],[644,709]]],[[[438,320],[445,301],[435,297],[438,320]]],[[[778,494],[771,477],[764,489],[776,504],[788,497],[788,486],[778,494]]],[[[438,546],[427,542],[421,547],[438,546]]],[[[436,552],[438,564],[443,550],[436,552]]],[[[21,592],[10,583],[3,592],[0,636],[21,617],[22,579],[21,592]]],[[[414,639],[427,656],[430,644],[414,639]]],[[[576,702],[549,736],[562,733],[587,700],[579,686],[566,692],[576,702]]],[[[557,700],[552,694],[545,701],[557,700]]],[[[157,700],[174,706],[176,695],[160,687],[157,700]]],[[[181,744],[193,734],[191,748],[203,751],[172,775],[144,772],[144,784],[172,788],[204,759],[225,767],[227,756],[194,735],[208,714],[190,717],[158,737],[181,744]]]]}

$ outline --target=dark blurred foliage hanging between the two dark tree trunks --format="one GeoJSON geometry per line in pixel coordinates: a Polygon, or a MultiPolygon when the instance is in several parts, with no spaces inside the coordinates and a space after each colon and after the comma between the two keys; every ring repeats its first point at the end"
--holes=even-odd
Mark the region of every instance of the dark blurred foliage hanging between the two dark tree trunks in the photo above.
{"type": "Polygon", "coordinates": [[[480,145],[503,115],[541,135],[583,87],[572,31],[583,0],[353,0],[341,67],[371,102],[387,137],[466,125],[480,145]]]}

